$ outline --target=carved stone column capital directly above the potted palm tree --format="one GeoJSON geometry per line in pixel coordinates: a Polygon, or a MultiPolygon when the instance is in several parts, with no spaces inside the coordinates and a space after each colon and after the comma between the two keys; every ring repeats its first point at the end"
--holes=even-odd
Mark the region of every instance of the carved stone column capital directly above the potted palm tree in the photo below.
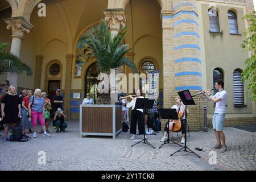
{"type": "Polygon", "coordinates": [[[126,16],[124,9],[102,10],[105,15],[104,20],[108,23],[111,32],[117,32],[125,26],[126,16]]]}

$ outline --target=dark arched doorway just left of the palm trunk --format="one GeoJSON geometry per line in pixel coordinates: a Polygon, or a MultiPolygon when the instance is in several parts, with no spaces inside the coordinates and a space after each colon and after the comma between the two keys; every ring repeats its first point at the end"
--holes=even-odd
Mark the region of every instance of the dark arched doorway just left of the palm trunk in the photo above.
{"type": "Polygon", "coordinates": [[[97,98],[97,88],[98,88],[98,75],[100,74],[100,69],[98,69],[97,64],[93,63],[90,65],[88,70],[85,74],[85,93],[84,96],[86,96],[86,93],[90,93],[90,97],[93,98],[94,102],[96,102],[97,98]]]}

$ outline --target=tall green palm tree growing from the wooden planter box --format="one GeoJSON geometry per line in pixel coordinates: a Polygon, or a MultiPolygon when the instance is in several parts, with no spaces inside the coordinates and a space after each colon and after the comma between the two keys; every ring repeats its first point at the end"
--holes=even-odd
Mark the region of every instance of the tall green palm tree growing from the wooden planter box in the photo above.
{"type": "MultiPolygon", "coordinates": [[[[128,45],[123,44],[126,34],[126,27],[123,27],[118,34],[112,35],[108,24],[101,20],[98,26],[92,27],[81,36],[77,48],[89,46],[101,73],[110,75],[112,69],[117,69],[123,65],[127,65],[134,72],[137,72],[134,62],[125,56],[130,51],[128,45]]],[[[97,104],[110,104],[111,97],[109,93],[98,94],[97,104]]]]}

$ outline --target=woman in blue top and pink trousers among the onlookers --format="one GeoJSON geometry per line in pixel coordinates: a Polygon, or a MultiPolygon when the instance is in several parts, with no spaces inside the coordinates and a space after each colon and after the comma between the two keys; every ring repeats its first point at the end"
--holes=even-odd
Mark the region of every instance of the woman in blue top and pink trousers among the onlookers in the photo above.
{"type": "Polygon", "coordinates": [[[44,137],[51,137],[46,132],[46,123],[44,121],[43,112],[44,112],[44,98],[41,97],[42,90],[36,89],[34,96],[30,98],[30,104],[28,104],[28,113],[32,120],[32,128],[33,128],[33,138],[36,138],[36,125],[39,120],[42,129],[44,131],[44,137]]]}

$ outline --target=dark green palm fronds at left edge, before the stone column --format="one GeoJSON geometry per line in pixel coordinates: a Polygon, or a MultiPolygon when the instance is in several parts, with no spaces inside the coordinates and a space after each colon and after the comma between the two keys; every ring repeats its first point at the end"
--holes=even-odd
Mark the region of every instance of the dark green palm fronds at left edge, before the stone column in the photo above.
{"type": "Polygon", "coordinates": [[[0,44],[0,74],[8,72],[22,73],[25,71],[27,76],[31,76],[32,69],[28,65],[22,63],[18,56],[3,50],[8,45],[8,43],[0,44]]]}

